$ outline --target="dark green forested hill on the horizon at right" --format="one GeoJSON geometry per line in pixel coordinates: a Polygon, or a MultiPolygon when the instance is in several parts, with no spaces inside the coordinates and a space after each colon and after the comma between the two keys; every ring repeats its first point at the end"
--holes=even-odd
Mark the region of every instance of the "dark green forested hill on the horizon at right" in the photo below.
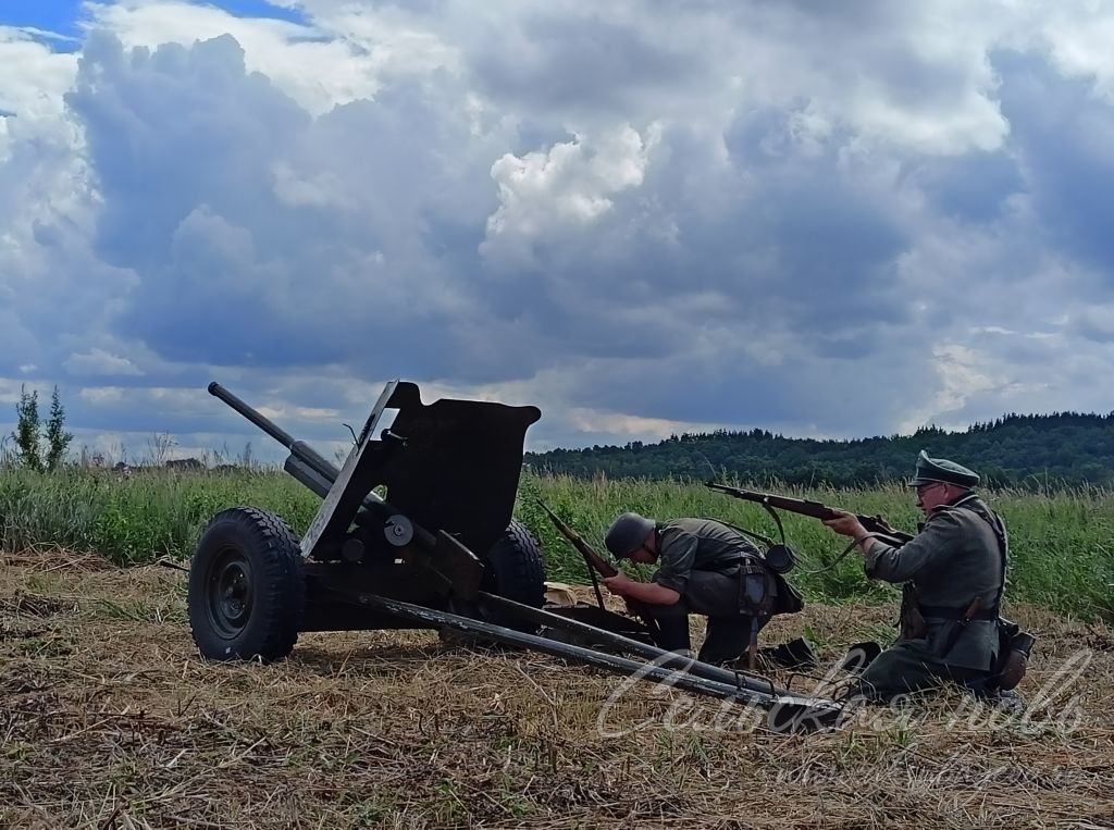
{"type": "Polygon", "coordinates": [[[990,488],[1114,486],[1114,412],[1010,413],[962,432],[926,427],[854,440],[785,438],[763,429],[686,432],[657,443],[529,452],[526,462],[539,472],[582,478],[872,487],[907,479],[922,449],[977,470],[990,488]]]}

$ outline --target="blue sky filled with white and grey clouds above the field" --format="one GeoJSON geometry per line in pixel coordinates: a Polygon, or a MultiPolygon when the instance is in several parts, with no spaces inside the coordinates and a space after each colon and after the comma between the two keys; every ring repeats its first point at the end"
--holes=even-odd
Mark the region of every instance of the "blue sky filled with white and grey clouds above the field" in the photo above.
{"type": "Polygon", "coordinates": [[[529,449],[1114,410],[1114,6],[0,0],[0,432],[529,449]]]}

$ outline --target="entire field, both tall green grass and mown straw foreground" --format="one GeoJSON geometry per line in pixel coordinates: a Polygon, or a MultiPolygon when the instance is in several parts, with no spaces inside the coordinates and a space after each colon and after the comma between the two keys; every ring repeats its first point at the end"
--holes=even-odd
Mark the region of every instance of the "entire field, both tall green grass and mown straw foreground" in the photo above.
{"type": "MultiPolygon", "coordinates": [[[[899,488],[794,495],[917,519],[899,488]]],[[[517,516],[551,579],[584,572],[538,497],[593,541],[625,509],[772,533],[754,506],[700,486],[527,476],[517,516]]],[[[173,560],[224,507],[266,507],[301,530],[315,497],[274,472],[6,470],[0,827],[1112,827],[1114,504],[993,502],[1013,533],[1007,612],[1039,638],[1027,712],[949,693],[786,736],[737,705],[430,632],[306,634],[273,665],[206,664],[173,560]]],[[[802,570],[842,548],[818,523],[785,524],[802,570]]],[[[853,557],[797,574],[811,602],[774,618],[765,644],[804,635],[827,668],[849,643],[892,636],[893,594],[853,557]]],[[[822,682],[770,671],[799,692],[822,682]]]]}

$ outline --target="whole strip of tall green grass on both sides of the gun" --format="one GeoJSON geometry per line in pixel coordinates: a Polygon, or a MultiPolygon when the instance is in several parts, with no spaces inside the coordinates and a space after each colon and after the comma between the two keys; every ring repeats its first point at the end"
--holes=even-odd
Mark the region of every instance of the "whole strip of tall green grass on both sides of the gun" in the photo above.
{"type": "MultiPolygon", "coordinates": [[[[778,489],[854,512],[882,515],[910,531],[920,519],[911,492],[896,485],[870,490],[778,489]]],[[[537,506],[539,498],[599,549],[607,526],[624,510],[658,519],[707,516],[778,536],[774,523],[758,505],[695,484],[526,473],[515,515],[541,544],[548,578],[564,582],[585,582],[587,572],[537,506]]],[[[1081,618],[1114,619],[1114,494],[1004,491],[987,498],[1010,533],[1009,599],[1081,618]]],[[[104,470],[39,475],[0,468],[0,546],[19,550],[52,545],[100,553],[121,565],[160,556],[186,558],[208,519],[237,505],[273,510],[301,534],[320,500],[277,470],[144,470],[121,478],[104,470]]],[[[782,521],[798,551],[799,565],[790,578],[805,596],[825,602],[893,598],[892,588],[863,576],[857,553],[832,565],[846,546],[844,537],[805,517],[782,514],[782,521]]]]}

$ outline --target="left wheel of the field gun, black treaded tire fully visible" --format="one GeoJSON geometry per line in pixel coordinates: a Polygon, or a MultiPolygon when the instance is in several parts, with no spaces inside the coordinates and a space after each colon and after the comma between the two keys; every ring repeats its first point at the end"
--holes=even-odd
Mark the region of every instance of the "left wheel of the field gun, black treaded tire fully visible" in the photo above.
{"type": "Polygon", "coordinates": [[[236,507],[213,517],[189,568],[189,627],[206,660],[282,660],[305,608],[302,551],[280,517],[236,507]]]}

